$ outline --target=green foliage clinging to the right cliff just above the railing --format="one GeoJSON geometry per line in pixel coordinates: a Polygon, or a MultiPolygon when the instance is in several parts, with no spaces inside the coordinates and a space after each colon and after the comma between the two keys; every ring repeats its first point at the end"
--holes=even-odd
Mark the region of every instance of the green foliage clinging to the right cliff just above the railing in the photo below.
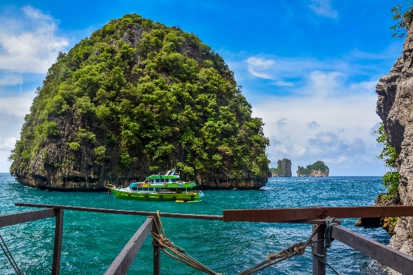
{"type": "Polygon", "coordinates": [[[383,199],[394,199],[397,189],[399,188],[400,175],[399,172],[396,171],[396,160],[397,157],[399,157],[399,154],[394,147],[387,142],[383,122],[375,133],[379,135],[379,137],[377,137],[377,142],[383,144],[383,150],[378,158],[382,159],[384,161],[384,166],[390,169],[390,171],[385,173],[381,178],[383,180],[383,185],[387,188],[386,194],[381,195],[381,197],[383,199]]]}

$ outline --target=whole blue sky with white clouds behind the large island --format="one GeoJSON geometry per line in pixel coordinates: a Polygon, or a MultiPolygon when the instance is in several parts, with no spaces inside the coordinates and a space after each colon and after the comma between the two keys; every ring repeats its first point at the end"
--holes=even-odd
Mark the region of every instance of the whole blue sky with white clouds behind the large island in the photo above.
{"type": "Polygon", "coordinates": [[[220,54],[262,118],[272,165],[324,161],[383,175],[379,78],[401,56],[390,10],[404,0],[8,1],[0,3],[0,172],[59,52],[127,13],[193,32],[220,54]]]}

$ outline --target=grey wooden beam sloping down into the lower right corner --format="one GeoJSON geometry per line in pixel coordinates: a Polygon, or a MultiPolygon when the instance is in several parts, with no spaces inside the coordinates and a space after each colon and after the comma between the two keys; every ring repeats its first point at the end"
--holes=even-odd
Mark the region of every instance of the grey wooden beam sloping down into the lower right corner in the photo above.
{"type": "Polygon", "coordinates": [[[332,238],[354,248],[382,265],[388,266],[401,274],[412,274],[413,257],[387,245],[373,241],[366,236],[352,232],[341,226],[332,227],[332,238]]]}

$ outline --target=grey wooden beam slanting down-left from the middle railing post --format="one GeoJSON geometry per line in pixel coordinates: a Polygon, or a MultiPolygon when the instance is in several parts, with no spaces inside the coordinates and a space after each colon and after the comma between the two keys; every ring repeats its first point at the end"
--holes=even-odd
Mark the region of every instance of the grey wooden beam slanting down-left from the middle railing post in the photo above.
{"type": "Polygon", "coordinates": [[[148,218],[140,226],[138,231],[132,236],[129,242],[125,245],[122,251],[118,254],[112,265],[109,266],[105,275],[124,275],[129,270],[129,267],[134,262],[136,254],[138,254],[147,236],[151,233],[153,219],[148,218]]]}

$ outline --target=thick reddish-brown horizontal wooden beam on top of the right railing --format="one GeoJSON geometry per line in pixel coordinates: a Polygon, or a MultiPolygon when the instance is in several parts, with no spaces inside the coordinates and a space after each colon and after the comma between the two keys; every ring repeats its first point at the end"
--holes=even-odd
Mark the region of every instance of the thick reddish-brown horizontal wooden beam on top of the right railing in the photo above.
{"type": "Polygon", "coordinates": [[[326,217],[371,218],[413,217],[413,206],[347,206],[224,210],[224,221],[285,222],[326,217]]]}

